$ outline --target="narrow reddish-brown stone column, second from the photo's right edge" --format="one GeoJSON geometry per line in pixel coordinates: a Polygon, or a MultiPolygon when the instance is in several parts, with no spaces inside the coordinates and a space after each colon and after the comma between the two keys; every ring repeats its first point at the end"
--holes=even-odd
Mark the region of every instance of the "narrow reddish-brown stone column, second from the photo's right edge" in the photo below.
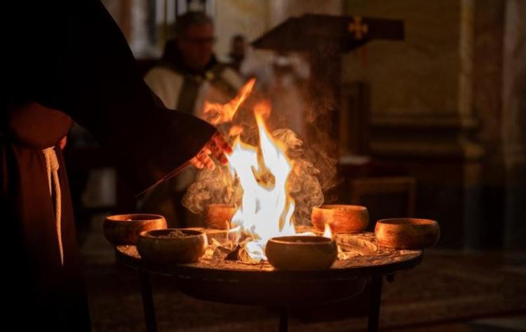
{"type": "Polygon", "coordinates": [[[468,248],[501,248],[504,234],[502,154],[502,55],[506,0],[477,0],[473,38],[473,112],[480,126],[480,204],[466,229],[468,248]],[[495,222],[499,220],[499,222],[495,222]]]}

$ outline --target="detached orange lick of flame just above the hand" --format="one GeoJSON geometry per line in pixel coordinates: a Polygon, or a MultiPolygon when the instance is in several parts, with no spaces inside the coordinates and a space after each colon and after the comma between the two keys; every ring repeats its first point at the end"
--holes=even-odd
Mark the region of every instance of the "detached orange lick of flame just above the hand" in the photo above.
{"type": "Polygon", "coordinates": [[[255,82],[255,79],[250,79],[241,88],[241,92],[236,95],[236,98],[230,100],[226,104],[205,101],[205,104],[203,105],[203,119],[210,122],[210,124],[224,124],[232,121],[241,104],[245,102],[252,92],[255,82]]]}

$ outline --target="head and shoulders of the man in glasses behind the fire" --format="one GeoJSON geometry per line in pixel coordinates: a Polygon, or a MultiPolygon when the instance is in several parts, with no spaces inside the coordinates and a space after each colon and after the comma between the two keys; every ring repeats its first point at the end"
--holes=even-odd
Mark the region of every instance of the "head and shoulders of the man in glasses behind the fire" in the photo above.
{"type": "Polygon", "coordinates": [[[159,64],[144,81],[166,107],[201,116],[203,102],[234,98],[243,79],[213,53],[213,20],[190,11],[175,20],[175,39],[166,43],[159,64]]]}

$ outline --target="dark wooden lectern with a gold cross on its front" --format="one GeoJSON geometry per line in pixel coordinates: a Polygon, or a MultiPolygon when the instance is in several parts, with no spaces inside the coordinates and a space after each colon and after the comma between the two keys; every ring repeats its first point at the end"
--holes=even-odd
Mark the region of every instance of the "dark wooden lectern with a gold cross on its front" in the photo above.
{"type": "MultiPolygon", "coordinates": [[[[339,119],[348,112],[340,107],[342,103],[342,55],[377,39],[400,41],[404,39],[404,23],[401,20],[367,18],[360,15],[335,16],[306,14],[285,20],[280,25],[265,32],[252,42],[255,48],[278,52],[303,52],[309,55],[311,79],[306,93],[314,107],[326,107],[318,114],[316,121],[307,128],[313,141],[320,138],[318,133],[328,133],[339,142],[339,119]],[[328,105],[328,106],[327,106],[328,105]],[[317,136],[318,135],[318,136],[317,136]]],[[[385,55],[389,57],[389,54],[385,55]]],[[[347,114],[348,115],[348,114],[347,114]]],[[[346,119],[351,119],[345,115],[346,119]]],[[[358,119],[358,117],[357,117],[358,119]]],[[[362,131],[355,140],[365,141],[368,115],[360,115],[356,124],[362,131]]],[[[346,120],[349,121],[349,120],[346,120]]],[[[342,135],[342,139],[346,136],[342,135]]],[[[328,150],[337,157],[337,147],[328,150]]]]}

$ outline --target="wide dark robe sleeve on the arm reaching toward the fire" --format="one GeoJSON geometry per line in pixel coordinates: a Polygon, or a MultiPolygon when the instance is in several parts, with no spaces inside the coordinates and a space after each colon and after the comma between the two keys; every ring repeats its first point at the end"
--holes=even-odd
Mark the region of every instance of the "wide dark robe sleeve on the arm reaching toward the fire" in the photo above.
{"type": "Polygon", "coordinates": [[[53,72],[48,72],[54,86],[40,89],[45,93],[41,100],[48,99],[51,107],[93,133],[109,156],[131,171],[133,190],[144,189],[194,157],[216,129],[167,109],[151,92],[100,1],[58,3],[60,14],[46,8],[46,19],[55,20],[47,36],[53,48],[46,55],[54,63],[53,72]]]}

